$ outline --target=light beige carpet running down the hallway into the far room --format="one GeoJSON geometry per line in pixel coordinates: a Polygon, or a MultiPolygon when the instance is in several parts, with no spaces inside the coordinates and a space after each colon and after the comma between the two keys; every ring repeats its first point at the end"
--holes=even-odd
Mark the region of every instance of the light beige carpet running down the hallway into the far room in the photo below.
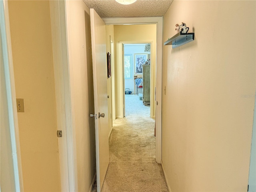
{"type": "Polygon", "coordinates": [[[109,140],[110,163],[102,192],[168,192],[155,161],[155,120],[138,95],[126,95],[126,117],[116,119],[109,140]]]}

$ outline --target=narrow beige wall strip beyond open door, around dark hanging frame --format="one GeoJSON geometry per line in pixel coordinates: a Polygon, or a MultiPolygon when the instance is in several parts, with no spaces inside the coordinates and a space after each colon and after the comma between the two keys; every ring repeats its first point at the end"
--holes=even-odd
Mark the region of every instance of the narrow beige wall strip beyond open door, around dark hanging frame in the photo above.
{"type": "MultiPolygon", "coordinates": [[[[110,38],[113,41],[114,40],[114,25],[106,25],[106,51],[107,53],[111,53],[111,48],[110,48],[110,38]]],[[[114,54],[114,53],[112,53],[114,54]]],[[[111,61],[111,64],[114,64],[114,61],[111,61]]],[[[110,78],[107,79],[107,86],[108,86],[108,128],[109,128],[109,133],[112,130],[112,77],[113,74],[110,78]]]]}

